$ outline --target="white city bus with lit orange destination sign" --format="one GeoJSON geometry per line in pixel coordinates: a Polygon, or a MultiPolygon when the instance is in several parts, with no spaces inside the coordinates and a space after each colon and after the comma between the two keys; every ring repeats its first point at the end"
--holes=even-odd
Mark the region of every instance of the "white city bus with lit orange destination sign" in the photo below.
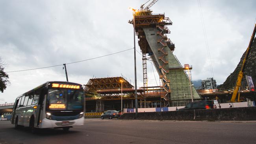
{"type": "Polygon", "coordinates": [[[48,81],[17,97],[11,123],[15,129],[28,126],[63,128],[83,126],[83,87],[77,83],[48,81]]]}

